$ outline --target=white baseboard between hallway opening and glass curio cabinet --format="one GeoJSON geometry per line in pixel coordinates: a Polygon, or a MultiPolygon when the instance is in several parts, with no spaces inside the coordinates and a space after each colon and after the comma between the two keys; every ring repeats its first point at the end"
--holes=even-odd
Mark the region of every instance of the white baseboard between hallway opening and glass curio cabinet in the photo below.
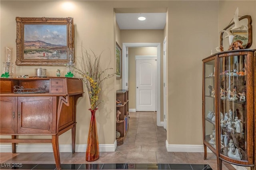
{"type": "MultiPolygon", "coordinates": [[[[204,145],[180,145],[180,144],[168,144],[166,140],[165,146],[167,152],[204,152],[204,145]]],[[[207,148],[207,152],[212,152],[207,148]]]]}

